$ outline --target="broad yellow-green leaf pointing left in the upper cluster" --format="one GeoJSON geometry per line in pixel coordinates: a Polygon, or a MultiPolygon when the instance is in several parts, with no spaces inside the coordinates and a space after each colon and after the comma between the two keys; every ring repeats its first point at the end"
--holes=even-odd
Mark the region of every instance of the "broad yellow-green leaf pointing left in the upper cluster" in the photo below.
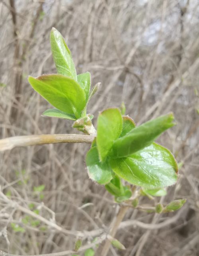
{"type": "Polygon", "coordinates": [[[63,75],[43,75],[29,77],[29,83],[43,98],[59,110],[80,118],[86,105],[86,98],[80,85],[63,75]]]}

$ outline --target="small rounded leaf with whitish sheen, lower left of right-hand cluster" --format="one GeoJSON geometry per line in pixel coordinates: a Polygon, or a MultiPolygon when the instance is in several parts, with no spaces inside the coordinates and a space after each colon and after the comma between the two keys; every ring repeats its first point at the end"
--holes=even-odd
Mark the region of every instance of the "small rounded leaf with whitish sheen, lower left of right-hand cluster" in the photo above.
{"type": "Polygon", "coordinates": [[[97,147],[93,147],[87,152],[86,165],[90,179],[101,185],[109,183],[113,178],[109,163],[100,162],[97,147]]]}

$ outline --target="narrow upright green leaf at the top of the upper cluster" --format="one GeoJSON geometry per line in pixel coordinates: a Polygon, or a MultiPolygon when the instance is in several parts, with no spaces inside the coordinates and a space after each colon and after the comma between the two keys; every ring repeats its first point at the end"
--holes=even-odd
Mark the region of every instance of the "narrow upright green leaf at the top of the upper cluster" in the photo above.
{"type": "Polygon", "coordinates": [[[64,38],[58,30],[52,28],[50,39],[51,51],[57,68],[57,73],[77,80],[74,62],[64,38]]]}

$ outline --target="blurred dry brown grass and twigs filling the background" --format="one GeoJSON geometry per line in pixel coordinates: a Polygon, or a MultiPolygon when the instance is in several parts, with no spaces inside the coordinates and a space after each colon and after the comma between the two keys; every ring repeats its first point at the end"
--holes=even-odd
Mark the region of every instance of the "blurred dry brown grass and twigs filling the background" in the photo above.
{"type": "MultiPolygon", "coordinates": [[[[127,249],[111,248],[110,256],[199,256],[198,24],[197,0],[0,1],[0,83],[6,85],[0,87],[1,138],[74,133],[69,121],[41,117],[48,104],[27,82],[28,75],[56,72],[49,43],[53,26],[65,37],[78,73],[90,71],[92,85],[101,82],[90,113],[97,117],[124,101],[138,124],[170,111],[176,116],[178,125],[159,142],[184,163],[179,181],[150,203],[178,198],[187,203],[163,215],[129,209],[116,235],[127,249]]],[[[82,232],[86,244],[108,230],[117,207],[88,179],[88,148],[57,144],[0,154],[0,250],[24,255],[71,250],[82,232]],[[43,199],[33,191],[39,185],[45,185],[43,199]],[[24,224],[30,203],[39,209],[38,226],[24,224]],[[25,232],[14,232],[11,223],[25,232]]]]}

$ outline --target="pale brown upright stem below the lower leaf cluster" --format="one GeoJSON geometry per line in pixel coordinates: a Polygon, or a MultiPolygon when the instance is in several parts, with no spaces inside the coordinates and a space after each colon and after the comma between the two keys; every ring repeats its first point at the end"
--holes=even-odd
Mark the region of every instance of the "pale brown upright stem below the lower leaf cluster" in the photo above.
{"type": "MultiPolygon", "coordinates": [[[[112,236],[113,238],[114,238],[114,236],[117,232],[117,229],[119,228],[119,224],[121,223],[121,221],[125,217],[125,214],[126,214],[128,209],[129,209],[128,206],[122,206],[119,209],[119,213],[117,214],[116,219],[111,223],[111,230],[109,232],[109,235],[112,236]]],[[[111,246],[111,242],[109,240],[106,240],[105,245],[103,246],[101,255],[107,256],[110,246],[111,246]]]]}

